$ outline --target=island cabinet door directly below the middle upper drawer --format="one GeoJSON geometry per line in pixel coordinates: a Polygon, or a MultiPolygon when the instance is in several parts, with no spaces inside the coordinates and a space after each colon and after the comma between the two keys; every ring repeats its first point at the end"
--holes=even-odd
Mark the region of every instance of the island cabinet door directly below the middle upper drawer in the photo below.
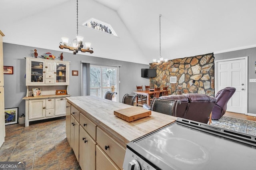
{"type": "Polygon", "coordinates": [[[80,125],[79,129],[79,165],[82,170],[95,170],[96,142],[80,125]]]}

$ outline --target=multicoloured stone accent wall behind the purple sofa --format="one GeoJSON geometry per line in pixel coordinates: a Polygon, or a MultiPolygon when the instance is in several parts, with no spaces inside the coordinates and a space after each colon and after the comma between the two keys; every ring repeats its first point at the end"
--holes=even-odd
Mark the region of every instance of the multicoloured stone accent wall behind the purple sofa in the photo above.
{"type": "Polygon", "coordinates": [[[169,95],[200,93],[214,97],[213,53],[169,60],[168,64],[150,64],[156,77],[150,78],[150,87],[168,87],[169,95]],[[170,83],[177,76],[177,83],[170,83]],[[194,81],[194,83],[193,83],[194,81]]]}

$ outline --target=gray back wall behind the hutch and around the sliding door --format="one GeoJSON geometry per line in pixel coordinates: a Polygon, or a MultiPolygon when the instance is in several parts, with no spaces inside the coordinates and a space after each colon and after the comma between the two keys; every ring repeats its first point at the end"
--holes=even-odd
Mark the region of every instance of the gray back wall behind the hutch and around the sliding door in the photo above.
{"type": "MultiPolygon", "coordinates": [[[[33,57],[34,49],[37,49],[38,56],[50,52],[56,56],[56,60],[59,60],[58,57],[61,52],[10,43],[4,43],[3,46],[4,65],[14,67],[13,75],[4,75],[4,108],[18,107],[18,115],[20,116],[22,113],[25,113],[25,101],[22,100],[22,98],[26,96],[26,79],[24,78],[26,74],[26,59],[24,57],[33,57]]],[[[136,85],[149,85],[149,79],[141,77],[141,69],[149,68],[149,65],[80,55],[80,52],[74,55],[65,52],[67,50],[68,49],[63,50],[63,60],[71,61],[70,85],[68,87],[71,96],[81,96],[82,93],[81,61],[92,61],[110,66],[122,65],[122,67],[119,67],[119,102],[122,102],[124,94],[133,93],[133,91],[136,90],[136,85]],[[78,70],[78,76],[72,76],[72,70],[78,70]]]]}

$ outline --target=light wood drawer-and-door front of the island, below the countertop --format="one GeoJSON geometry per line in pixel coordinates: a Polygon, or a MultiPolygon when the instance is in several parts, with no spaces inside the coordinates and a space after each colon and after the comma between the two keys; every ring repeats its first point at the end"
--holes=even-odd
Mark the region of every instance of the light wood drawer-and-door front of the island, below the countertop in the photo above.
{"type": "Polygon", "coordinates": [[[94,170],[96,167],[98,170],[122,169],[126,148],[99,128],[96,122],[66,102],[66,108],[69,107],[70,113],[66,111],[67,140],[70,140],[70,146],[76,158],[79,158],[78,162],[82,170],[94,170]],[[78,124],[80,128],[76,129],[78,124]],[[79,133],[79,137],[77,133],[79,133]],[[70,139],[68,139],[69,136],[70,139]],[[77,150],[77,146],[79,146],[79,150],[77,150]],[[98,146],[97,151],[96,146],[98,146]]]}

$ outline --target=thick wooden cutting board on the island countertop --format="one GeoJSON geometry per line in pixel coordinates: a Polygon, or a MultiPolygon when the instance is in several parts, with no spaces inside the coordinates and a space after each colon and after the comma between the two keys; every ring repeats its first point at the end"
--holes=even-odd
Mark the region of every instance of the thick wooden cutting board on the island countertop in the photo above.
{"type": "Polygon", "coordinates": [[[129,107],[114,111],[114,115],[127,122],[132,122],[151,115],[151,111],[143,109],[142,107],[129,107]]]}

